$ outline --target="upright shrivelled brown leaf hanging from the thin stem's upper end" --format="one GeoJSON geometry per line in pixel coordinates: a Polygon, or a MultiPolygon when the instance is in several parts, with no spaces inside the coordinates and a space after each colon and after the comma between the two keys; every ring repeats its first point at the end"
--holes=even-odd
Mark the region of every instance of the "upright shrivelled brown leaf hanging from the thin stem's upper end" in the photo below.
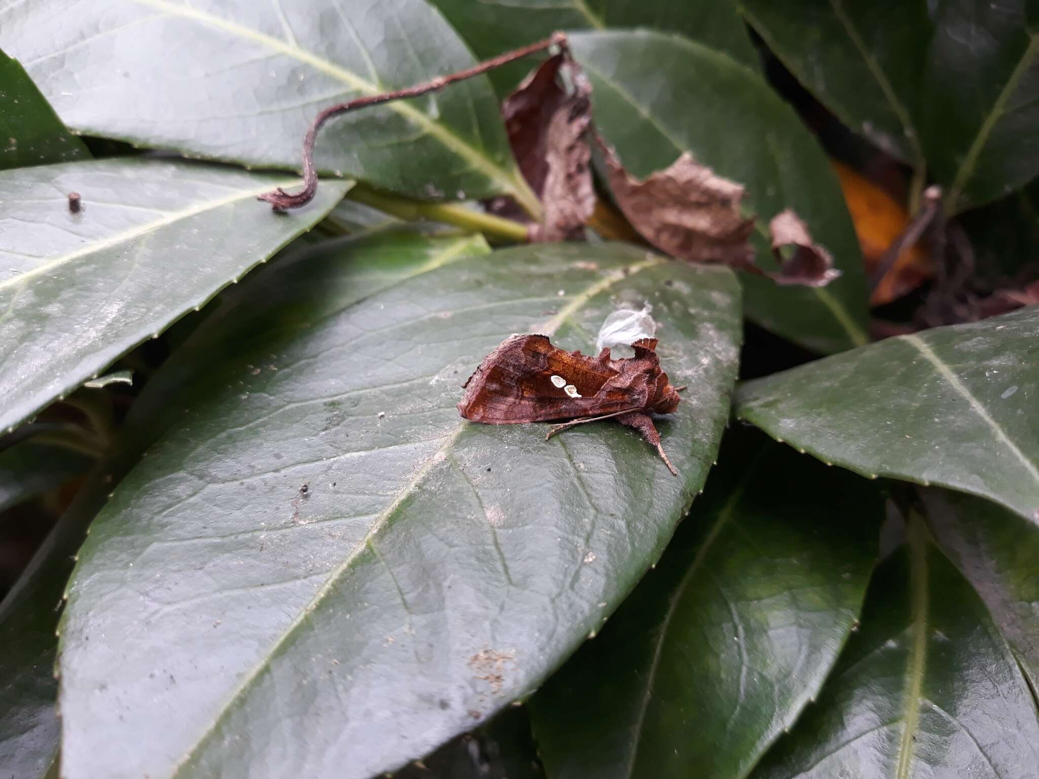
{"type": "Polygon", "coordinates": [[[591,150],[585,136],[591,123],[591,84],[563,54],[547,59],[510,95],[503,106],[512,153],[543,206],[531,240],[581,239],[595,208],[591,150]],[[568,75],[572,89],[561,83],[568,75]]]}

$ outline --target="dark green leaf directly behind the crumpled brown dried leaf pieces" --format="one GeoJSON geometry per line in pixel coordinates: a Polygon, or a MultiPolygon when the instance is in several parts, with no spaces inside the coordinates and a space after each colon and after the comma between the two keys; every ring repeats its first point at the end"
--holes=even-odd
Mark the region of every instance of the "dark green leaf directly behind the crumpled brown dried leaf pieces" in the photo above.
{"type": "Polygon", "coordinates": [[[570,43],[594,87],[596,127],[633,176],[691,152],[746,185],[763,267],[773,262],[766,225],[785,208],[833,254],[843,275],[825,288],[777,287],[742,274],[747,317],[821,352],[867,343],[862,257],[851,218],[835,173],[790,106],[756,73],[681,37],[594,32],[570,43]]]}

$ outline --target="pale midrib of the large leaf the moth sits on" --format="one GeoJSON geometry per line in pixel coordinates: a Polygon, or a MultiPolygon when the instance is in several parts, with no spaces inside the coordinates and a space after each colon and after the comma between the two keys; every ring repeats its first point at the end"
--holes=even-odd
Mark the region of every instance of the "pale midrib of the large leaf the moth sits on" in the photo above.
{"type": "MultiPolygon", "coordinates": [[[[537,328],[540,332],[545,335],[552,335],[559,328],[559,326],[576,311],[581,308],[585,303],[588,302],[595,295],[605,292],[613,285],[618,281],[631,278],[636,273],[644,270],[645,268],[652,267],[655,265],[660,265],[666,263],[667,260],[663,257],[650,257],[639,263],[634,263],[628,266],[628,273],[621,271],[615,271],[607,274],[600,280],[590,285],[584,292],[579,293],[574,297],[574,299],[563,306],[559,313],[552,319],[548,320],[541,327],[537,328]]],[[[372,541],[378,534],[379,531],[385,526],[390,517],[393,516],[394,512],[410,496],[415,489],[425,480],[426,474],[442,460],[445,460],[448,452],[454,446],[458,436],[461,435],[462,431],[465,429],[469,422],[462,420],[454,428],[454,430],[448,432],[445,436],[444,444],[436,449],[430,456],[428,456],[419,469],[416,472],[415,476],[408,480],[408,482],[398,491],[397,496],[376,516],[375,521],[369,529],[365,537],[362,538],[353,550],[336,566],[335,569],[328,574],[324,584],[315,592],[311,600],[299,610],[295,619],[277,636],[276,640],[270,644],[269,649],[264,653],[260,661],[243,676],[242,680],[238,683],[235,690],[232,692],[227,702],[220,706],[220,708],[215,713],[210,725],[199,734],[198,738],[195,741],[194,745],[186,752],[181,759],[175,763],[171,776],[177,777],[182,774],[182,772],[187,768],[191,758],[198,752],[198,750],[206,743],[206,740],[216,732],[217,727],[224,717],[231,711],[232,706],[243,696],[246,695],[248,689],[251,684],[260,677],[265,669],[269,667],[269,661],[273,657],[278,649],[295,634],[295,632],[302,625],[305,619],[317,610],[317,608],[323,602],[328,593],[331,592],[332,588],[339,583],[339,581],[346,574],[350,569],[353,561],[368,547],[369,542],[372,541]]]]}

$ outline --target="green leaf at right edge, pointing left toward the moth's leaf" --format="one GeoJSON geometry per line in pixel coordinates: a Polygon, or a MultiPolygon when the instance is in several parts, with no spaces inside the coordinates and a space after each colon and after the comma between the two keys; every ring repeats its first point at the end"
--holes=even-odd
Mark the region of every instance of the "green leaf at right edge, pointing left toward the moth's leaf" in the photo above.
{"type": "Polygon", "coordinates": [[[745,382],[736,413],[826,462],[1039,520],[1039,308],[887,339],[745,382]]]}

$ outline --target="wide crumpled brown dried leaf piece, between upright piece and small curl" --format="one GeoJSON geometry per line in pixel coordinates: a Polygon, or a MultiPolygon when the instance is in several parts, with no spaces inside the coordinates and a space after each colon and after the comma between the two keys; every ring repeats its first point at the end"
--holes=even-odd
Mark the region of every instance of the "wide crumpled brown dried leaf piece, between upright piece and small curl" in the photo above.
{"type": "Polygon", "coordinates": [[[747,239],[754,220],[740,211],[742,185],[716,176],[688,153],[639,181],[597,140],[617,206],[649,243],[694,263],[751,267],[754,251],[747,239]]]}

